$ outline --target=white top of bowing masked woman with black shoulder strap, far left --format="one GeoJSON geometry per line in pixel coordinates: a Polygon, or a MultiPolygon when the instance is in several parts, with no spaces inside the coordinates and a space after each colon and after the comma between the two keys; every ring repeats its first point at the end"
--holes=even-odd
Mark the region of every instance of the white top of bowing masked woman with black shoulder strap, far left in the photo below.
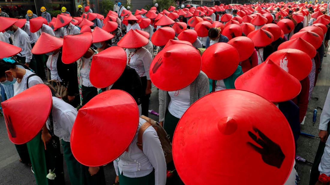
{"type": "MultiPolygon", "coordinates": [[[[22,81],[20,83],[18,83],[17,81],[14,83],[14,96],[17,95],[18,93],[23,92],[24,90],[27,89],[26,87],[26,80],[27,77],[34,74],[32,71],[30,70],[26,70],[25,75],[22,78],[22,81]]],[[[40,77],[38,76],[33,76],[29,78],[29,87],[32,87],[33,85],[39,84],[39,83],[44,83],[40,77]]]]}

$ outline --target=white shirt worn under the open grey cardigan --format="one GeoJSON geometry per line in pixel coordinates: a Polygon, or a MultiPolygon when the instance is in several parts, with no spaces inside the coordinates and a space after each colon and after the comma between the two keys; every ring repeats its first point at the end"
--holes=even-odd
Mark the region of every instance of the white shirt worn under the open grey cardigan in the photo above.
{"type": "MultiPolygon", "coordinates": [[[[181,118],[183,113],[190,106],[190,85],[177,91],[168,91],[171,97],[168,104],[168,111],[175,117],[181,118]]],[[[166,124],[166,123],[164,123],[166,124]]]]}

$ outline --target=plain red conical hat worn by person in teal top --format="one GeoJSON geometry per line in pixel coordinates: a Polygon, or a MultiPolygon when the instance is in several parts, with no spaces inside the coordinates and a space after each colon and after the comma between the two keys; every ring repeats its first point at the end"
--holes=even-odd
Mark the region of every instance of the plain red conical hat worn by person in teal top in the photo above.
{"type": "Polygon", "coordinates": [[[237,69],[239,54],[234,46],[218,42],[208,47],[202,55],[202,71],[212,80],[223,80],[237,69]]]}

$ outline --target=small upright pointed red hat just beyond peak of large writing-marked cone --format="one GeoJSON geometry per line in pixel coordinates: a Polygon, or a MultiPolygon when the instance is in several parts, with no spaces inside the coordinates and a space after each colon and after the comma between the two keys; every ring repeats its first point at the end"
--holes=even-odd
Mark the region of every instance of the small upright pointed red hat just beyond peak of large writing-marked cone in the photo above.
{"type": "Polygon", "coordinates": [[[263,29],[249,33],[248,37],[253,41],[255,47],[265,47],[274,40],[273,34],[263,29]]]}

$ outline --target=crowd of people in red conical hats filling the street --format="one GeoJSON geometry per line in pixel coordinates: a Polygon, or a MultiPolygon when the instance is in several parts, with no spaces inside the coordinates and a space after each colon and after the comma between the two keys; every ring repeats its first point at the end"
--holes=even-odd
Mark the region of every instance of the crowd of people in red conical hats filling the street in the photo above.
{"type": "MultiPolygon", "coordinates": [[[[105,184],[108,164],[121,185],[299,183],[327,4],[77,8],[0,12],[2,111],[38,185],[64,184],[63,160],[71,184],[105,184]]],[[[330,182],[329,121],[328,94],[310,185],[330,182]]]]}

